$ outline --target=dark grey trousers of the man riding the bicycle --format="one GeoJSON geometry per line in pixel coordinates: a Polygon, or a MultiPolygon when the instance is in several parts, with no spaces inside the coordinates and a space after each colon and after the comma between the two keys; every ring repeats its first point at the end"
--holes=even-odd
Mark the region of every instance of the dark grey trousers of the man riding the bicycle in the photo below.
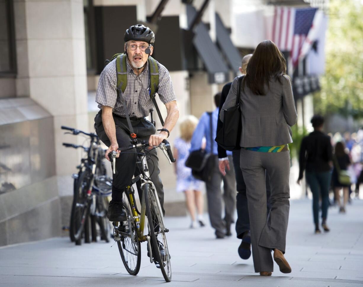
{"type": "MultiPolygon", "coordinates": [[[[126,119],[122,119],[120,117],[114,116],[115,126],[116,126],[116,138],[119,147],[128,146],[131,144],[132,138],[130,137],[130,133],[127,132],[127,123],[126,119]]],[[[146,119],[131,121],[131,125],[135,127],[135,133],[140,135],[137,139],[138,141],[148,141],[151,134],[155,134],[155,127],[151,124],[151,122],[146,119]]],[[[106,145],[110,146],[110,140],[106,135],[105,129],[103,128],[101,113],[98,113],[95,117],[95,130],[97,136],[100,140],[106,145]]],[[[128,185],[131,184],[131,179],[133,175],[139,175],[142,172],[141,167],[136,166],[136,150],[129,150],[126,152],[122,152],[120,156],[116,159],[116,169],[117,173],[113,175],[112,182],[112,199],[121,200],[122,192],[128,185]]],[[[158,193],[159,201],[161,208],[164,211],[164,189],[163,183],[159,177],[160,169],[159,169],[159,159],[156,153],[156,149],[151,150],[147,153],[150,157],[147,158],[147,165],[150,171],[150,179],[154,183],[156,191],[158,193]]],[[[142,198],[142,190],[140,189],[140,182],[136,182],[136,186],[139,193],[139,198],[142,198]]]]}

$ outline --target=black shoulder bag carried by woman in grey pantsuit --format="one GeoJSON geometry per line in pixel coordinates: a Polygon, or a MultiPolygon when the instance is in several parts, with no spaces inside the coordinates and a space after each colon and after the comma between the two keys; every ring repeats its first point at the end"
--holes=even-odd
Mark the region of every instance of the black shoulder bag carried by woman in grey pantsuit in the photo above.
{"type": "Polygon", "coordinates": [[[236,105],[224,110],[223,123],[221,128],[217,131],[216,142],[225,150],[239,150],[241,149],[241,84],[243,76],[238,78],[237,100],[236,105]]]}

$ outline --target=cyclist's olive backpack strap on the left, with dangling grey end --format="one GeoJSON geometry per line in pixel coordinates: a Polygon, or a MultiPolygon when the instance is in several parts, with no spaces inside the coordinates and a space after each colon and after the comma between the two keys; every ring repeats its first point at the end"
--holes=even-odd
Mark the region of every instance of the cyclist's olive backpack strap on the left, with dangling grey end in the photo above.
{"type": "Polygon", "coordinates": [[[134,133],[134,128],[132,128],[129,109],[127,109],[125,98],[123,97],[123,93],[125,92],[127,85],[127,68],[126,68],[126,55],[120,54],[116,58],[116,70],[117,70],[117,95],[120,97],[123,111],[125,112],[125,117],[127,121],[127,125],[129,126],[130,136],[132,138],[136,138],[136,134],[134,133]],[[122,65],[121,65],[122,62],[122,65]]]}

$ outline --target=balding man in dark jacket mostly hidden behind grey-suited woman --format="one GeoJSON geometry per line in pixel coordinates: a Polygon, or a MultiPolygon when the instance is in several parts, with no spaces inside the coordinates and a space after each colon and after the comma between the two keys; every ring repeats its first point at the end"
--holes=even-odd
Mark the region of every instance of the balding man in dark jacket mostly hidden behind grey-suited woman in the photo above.
{"type": "MultiPolygon", "coordinates": [[[[240,71],[242,74],[246,73],[246,66],[252,54],[248,54],[242,58],[242,67],[240,71]]],[[[232,82],[224,85],[221,93],[221,101],[219,105],[219,114],[221,108],[227,98],[228,92],[231,89],[232,82]]],[[[217,130],[221,128],[222,122],[218,115],[217,130]]],[[[225,170],[229,170],[229,159],[227,157],[226,150],[218,146],[218,158],[219,158],[219,170],[224,176],[225,170]]],[[[242,239],[240,246],[238,247],[238,255],[242,259],[248,259],[251,256],[251,235],[250,235],[250,222],[248,214],[248,205],[246,197],[246,184],[243,179],[242,170],[240,168],[240,151],[236,150],[232,152],[232,161],[234,167],[234,173],[236,174],[236,186],[237,186],[237,221],[236,221],[236,233],[237,238],[242,239]]],[[[267,209],[270,209],[270,185],[268,175],[266,174],[266,193],[267,193],[267,209]]]]}

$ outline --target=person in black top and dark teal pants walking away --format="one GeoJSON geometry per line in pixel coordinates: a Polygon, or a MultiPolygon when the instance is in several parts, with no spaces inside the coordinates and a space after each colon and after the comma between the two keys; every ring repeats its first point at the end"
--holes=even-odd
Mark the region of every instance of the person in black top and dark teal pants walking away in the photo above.
{"type": "Polygon", "coordinates": [[[331,179],[332,147],[330,137],[322,132],[324,118],[315,115],[311,118],[314,132],[304,137],[301,142],[299,153],[299,178],[300,184],[306,169],[306,181],[313,193],[313,215],[315,223],[315,233],[321,233],[319,229],[319,198],[322,199],[322,227],[324,231],[329,231],[326,224],[329,206],[329,186],[331,179]]]}

